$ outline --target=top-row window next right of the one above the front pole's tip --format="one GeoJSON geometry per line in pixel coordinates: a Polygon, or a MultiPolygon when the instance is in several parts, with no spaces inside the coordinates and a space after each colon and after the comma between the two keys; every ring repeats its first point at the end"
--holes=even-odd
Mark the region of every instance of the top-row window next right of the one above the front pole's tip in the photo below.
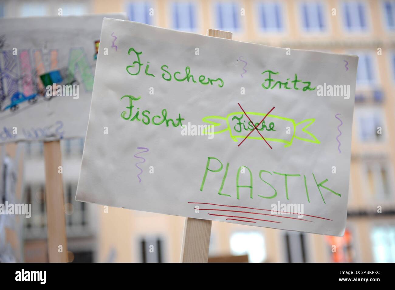
{"type": "Polygon", "coordinates": [[[278,3],[260,3],[258,6],[260,28],[265,32],[283,30],[281,6],[278,3]]]}

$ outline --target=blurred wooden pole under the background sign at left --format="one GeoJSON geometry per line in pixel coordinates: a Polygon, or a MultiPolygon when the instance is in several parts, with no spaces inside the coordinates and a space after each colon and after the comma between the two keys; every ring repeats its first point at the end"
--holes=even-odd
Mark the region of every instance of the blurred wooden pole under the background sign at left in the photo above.
{"type": "Polygon", "coordinates": [[[67,262],[66,218],[60,142],[44,142],[45,202],[47,210],[49,262],[67,262]],[[62,246],[62,251],[60,247],[62,246]]]}

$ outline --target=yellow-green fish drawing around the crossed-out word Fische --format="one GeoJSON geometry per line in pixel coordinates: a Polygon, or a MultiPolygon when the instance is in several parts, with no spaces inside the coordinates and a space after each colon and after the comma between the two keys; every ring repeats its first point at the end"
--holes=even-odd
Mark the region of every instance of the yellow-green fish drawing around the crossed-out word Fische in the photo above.
{"type": "MultiPolygon", "coordinates": [[[[271,114],[267,116],[264,113],[258,112],[246,112],[246,114],[251,120],[253,120],[253,122],[256,122],[254,125],[267,141],[285,143],[284,147],[291,146],[294,138],[315,144],[321,143],[320,140],[318,140],[311,132],[307,131],[307,128],[316,121],[315,119],[306,119],[296,123],[293,119],[271,114]],[[263,120],[263,122],[258,126],[259,122],[265,116],[265,120],[263,120]],[[304,127],[302,124],[305,124],[304,127]],[[308,135],[304,136],[306,138],[297,136],[297,129],[301,127],[303,127],[301,131],[308,135]]],[[[230,138],[235,142],[243,140],[250,131],[254,130],[254,125],[250,120],[248,120],[244,112],[232,112],[226,117],[207,116],[204,117],[202,121],[213,126],[213,134],[220,134],[229,131],[230,138]]],[[[207,131],[207,129],[205,129],[205,131],[207,131]]],[[[262,139],[262,137],[258,133],[253,132],[247,137],[247,139],[259,140],[262,139]]]]}

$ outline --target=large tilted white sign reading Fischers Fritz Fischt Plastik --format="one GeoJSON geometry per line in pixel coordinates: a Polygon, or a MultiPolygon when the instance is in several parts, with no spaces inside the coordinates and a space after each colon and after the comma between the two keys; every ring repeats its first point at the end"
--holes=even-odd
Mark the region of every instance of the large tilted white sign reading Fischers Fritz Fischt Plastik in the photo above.
{"type": "Polygon", "coordinates": [[[357,56],[115,19],[100,39],[77,200],[343,234],[357,56]]]}

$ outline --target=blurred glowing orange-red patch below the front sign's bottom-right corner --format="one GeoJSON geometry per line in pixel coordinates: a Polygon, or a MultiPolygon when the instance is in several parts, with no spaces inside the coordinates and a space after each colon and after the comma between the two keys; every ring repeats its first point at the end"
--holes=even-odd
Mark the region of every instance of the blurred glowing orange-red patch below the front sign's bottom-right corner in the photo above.
{"type": "Polygon", "coordinates": [[[355,250],[353,246],[352,232],[346,228],[344,236],[325,236],[331,260],[335,263],[355,262],[355,250]]]}

